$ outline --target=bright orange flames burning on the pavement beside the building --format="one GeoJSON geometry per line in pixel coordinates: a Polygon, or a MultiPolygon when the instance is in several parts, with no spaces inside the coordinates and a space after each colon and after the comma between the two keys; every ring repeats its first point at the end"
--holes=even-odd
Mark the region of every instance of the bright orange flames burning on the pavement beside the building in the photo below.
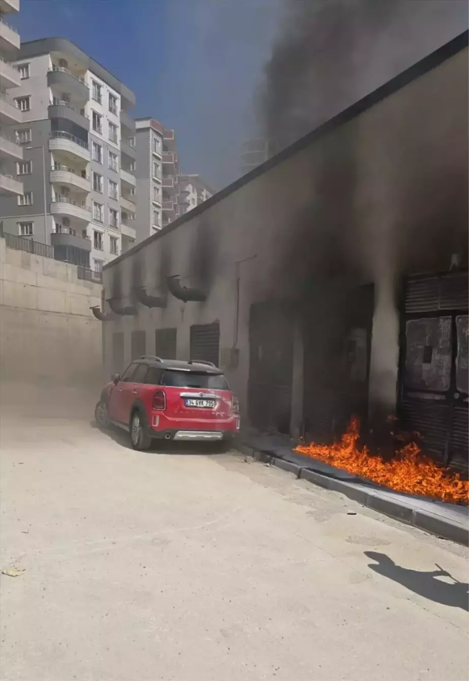
{"type": "Polygon", "coordinates": [[[423,494],[452,503],[469,503],[469,481],[459,473],[449,473],[423,456],[415,443],[399,449],[395,458],[384,461],[371,456],[367,447],[359,449],[359,422],[352,417],[340,442],[334,445],[298,445],[295,452],[319,459],[338,469],[365,477],[397,492],[423,494]]]}

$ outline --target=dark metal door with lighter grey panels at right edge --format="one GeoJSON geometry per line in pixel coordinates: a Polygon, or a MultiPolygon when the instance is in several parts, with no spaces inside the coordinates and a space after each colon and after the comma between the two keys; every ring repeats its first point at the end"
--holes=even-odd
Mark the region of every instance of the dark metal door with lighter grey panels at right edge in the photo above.
{"type": "Polygon", "coordinates": [[[402,427],[469,473],[469,272],[406,281],[399,395],[402,427]]]}

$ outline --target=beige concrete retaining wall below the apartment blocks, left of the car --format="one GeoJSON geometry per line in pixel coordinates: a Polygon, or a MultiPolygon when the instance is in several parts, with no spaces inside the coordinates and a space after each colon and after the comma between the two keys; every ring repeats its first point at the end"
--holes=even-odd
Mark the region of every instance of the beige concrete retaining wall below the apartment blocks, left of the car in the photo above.
{"type": "Polygon", "coordinates": [[[0,239],[1,381],[95,386],[101,383],[101,286],[77,268],[5,247],[0,239]]]}

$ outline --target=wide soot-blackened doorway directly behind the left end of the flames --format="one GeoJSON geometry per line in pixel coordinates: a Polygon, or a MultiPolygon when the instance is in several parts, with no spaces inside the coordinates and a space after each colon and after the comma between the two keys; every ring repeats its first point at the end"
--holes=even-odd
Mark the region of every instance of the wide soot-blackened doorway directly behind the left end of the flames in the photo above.
{"type": "MultiPolygon", "coordinates": [[[[368,416],[372,285],[327,285],[304,315],[304,434],[331,443],[368,416]]],[[[363,430],[363,428],[362,428],[363,430]]]]}

